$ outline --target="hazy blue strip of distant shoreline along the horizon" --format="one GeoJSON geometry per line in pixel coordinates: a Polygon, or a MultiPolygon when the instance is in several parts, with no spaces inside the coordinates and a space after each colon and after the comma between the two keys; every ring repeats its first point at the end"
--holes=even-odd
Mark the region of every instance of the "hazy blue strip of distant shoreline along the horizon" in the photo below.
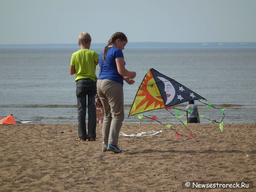
{"type": "MultiPolygon", "coordinates": [[[[91,49],[102,49],[105,43],[92,43],[91,49]]],[[[3,44],[0,49],[77,49],[77,44],[3,44]]],[[[256,42],[205,42],[205,43],[171,43],[171,42],[128,42],[127,49],[155,48],[256,48],[256,42]]]]}

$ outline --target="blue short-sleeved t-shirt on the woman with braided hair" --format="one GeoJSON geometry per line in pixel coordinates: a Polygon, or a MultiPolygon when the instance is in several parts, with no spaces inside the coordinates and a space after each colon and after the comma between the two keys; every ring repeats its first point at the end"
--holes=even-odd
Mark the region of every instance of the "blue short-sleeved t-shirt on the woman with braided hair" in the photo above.
{"type": "Polygon", "coordinates": [[[117,47],[108,47],[108,52],[102,66],[102,51],[99,55],[99,66],[101,70],[98,79],[110,79],[124,85],[123,76],[121,76],[117,71],[116,59],[120,57],[124,58],[124,54],[121,49],[117,47]]]}

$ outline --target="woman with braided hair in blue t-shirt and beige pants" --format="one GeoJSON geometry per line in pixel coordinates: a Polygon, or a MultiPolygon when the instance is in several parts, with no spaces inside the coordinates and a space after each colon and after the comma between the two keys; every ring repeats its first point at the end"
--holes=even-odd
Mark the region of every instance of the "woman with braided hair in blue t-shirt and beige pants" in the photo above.
{"type": "Polygon", "coordinates": [[[122,50],[128,40],[124,33],[117,32],[111,36],[108,45],[99,55],[100,74],[97,81],[99,98],[105,110],[102,124],[102,152],[122,153],[117,146],[118,136],[124,120],[123,84],[134,83],[136,72],[125,68],[122,50]]]}

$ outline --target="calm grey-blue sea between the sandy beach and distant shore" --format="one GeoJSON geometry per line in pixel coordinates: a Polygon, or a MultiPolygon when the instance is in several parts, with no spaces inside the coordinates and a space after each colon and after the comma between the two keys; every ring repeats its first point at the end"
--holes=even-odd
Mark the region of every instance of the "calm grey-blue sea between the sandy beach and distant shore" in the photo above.
{"type": "MultiPolygon", "coordinates": [[[[70,59],[77,49],[0,49],[0,117],[13,114],[40,123],[77,123],[75,76],[70,59]]],[[[101,49],[94,49],[100,52],[101,49]]],[[[200,94],[212,105],[226,108],[225,123],[256,123],[256,49],[124,49],[126,68],[136,71],[136,83],[124,84],[124,123],[154,123],[127,118],[147,71],[158,72],[200,94]]],[[[98,75],[97,67],[97,75],[98,75]]],[[[187,103],[176,106],[185,109],[187,103]]],[[[199,113],[221,120],[217,109],[196,102],[199,113]]],[[[180,123],[158,109],[144,113],[166,123],[180,123]]],[[[184,114],[184,113],[183,113],[184,114]]],[[[185,120],[185,118],[183,119],[185,120]]],[[[210,123],[201,120],[201,123],[210,123]]]]}

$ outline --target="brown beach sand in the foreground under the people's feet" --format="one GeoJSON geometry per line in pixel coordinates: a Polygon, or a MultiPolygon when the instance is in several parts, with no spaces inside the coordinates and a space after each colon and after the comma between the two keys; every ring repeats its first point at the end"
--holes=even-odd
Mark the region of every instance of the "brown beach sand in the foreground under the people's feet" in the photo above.
{"type": "Polygon", "coordinates": [[[195,138],[181,139],[161,124],[124,124],[126,134],[163,132],[120,136],[122,154],[101,152],[101,127],[97,141],[76,142],[76,124],[1,125],[0,191],[190,191],[183,182],[256,181],[256,124],[224,124],[223,132],[189,124],[195,138]]]}

